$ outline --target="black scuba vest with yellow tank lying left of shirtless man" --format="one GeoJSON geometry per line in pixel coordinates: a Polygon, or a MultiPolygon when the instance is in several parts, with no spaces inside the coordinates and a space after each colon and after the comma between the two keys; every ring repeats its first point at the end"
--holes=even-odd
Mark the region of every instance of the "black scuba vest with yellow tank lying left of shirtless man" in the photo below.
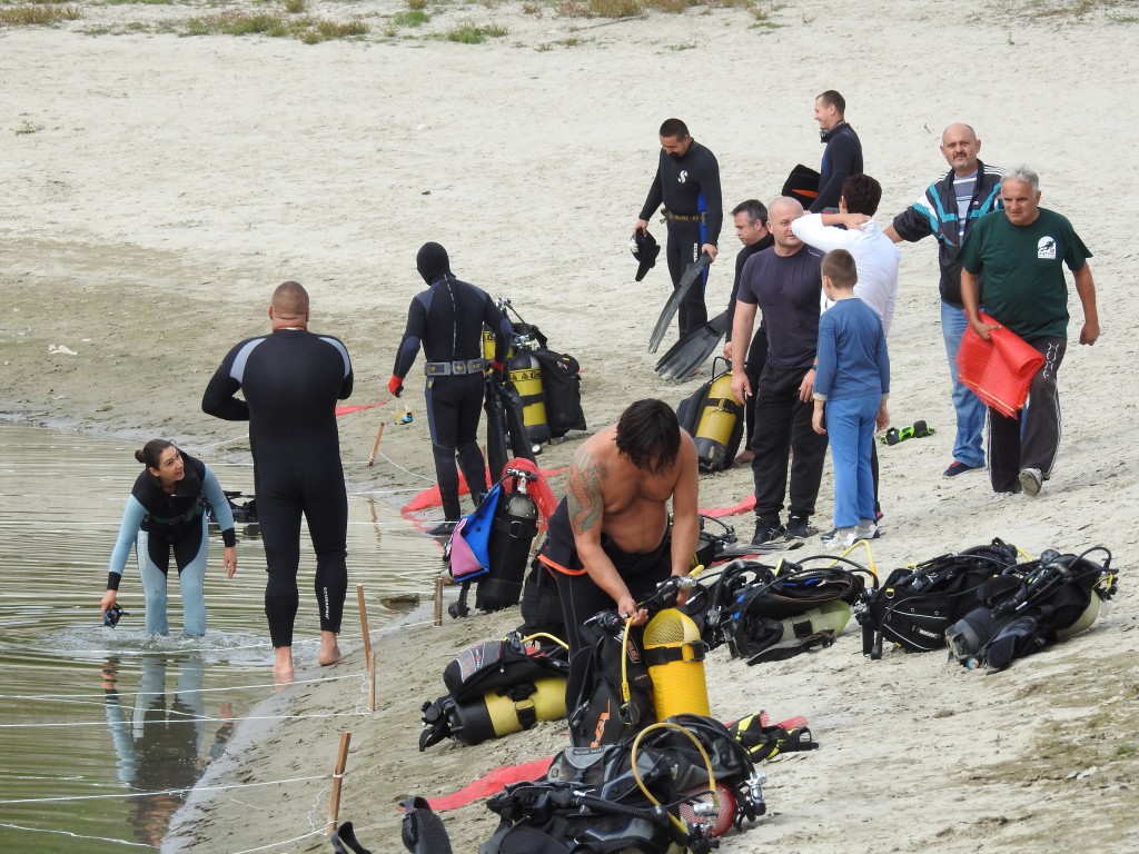
{"type": "Polygon", "coordinates": [[[449,693],[423,705],[419,749],[444,738],[465,745],[565,717],[570,660],[562,641],[542,644],[518,632],[469,647],[443,670],[449,693]]]}

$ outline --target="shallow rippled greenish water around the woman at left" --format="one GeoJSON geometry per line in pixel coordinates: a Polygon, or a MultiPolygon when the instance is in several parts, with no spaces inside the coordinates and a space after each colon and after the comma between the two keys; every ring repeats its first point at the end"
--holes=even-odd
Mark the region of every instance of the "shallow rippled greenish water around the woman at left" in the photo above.
{"type": "MultiPolygon", "coordinates": [[[[0,422],[0,851],[156,848],[185,789],[273,690],[255,526],[238,526],[232,580],[221,537],[211,539],[205,638],[179,634],[175,583],[171,635],[145,634],[133,552],[118,598],[131,614],[103,625],[137,444],[0,422]]],[[[252,492],[249,466],[202,455],[224,488],[252,492]]],[[[297,679],[351,678],[351,662],[316,665],[314,561],[303,537],[297,679]]],[[[396,616],[380,599],[429,597],[439,555],[391,507],[350,496],[346,652],[362,641],[355,585],[375,638],[396,616]]]]}

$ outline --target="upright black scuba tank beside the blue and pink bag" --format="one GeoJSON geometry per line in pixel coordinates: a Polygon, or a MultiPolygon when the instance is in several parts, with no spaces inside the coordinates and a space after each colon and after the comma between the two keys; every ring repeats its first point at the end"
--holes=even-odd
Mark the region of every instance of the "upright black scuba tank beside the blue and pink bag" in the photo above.
{"type": "MultiPolygon", "coordinates": [[[[531,474],[508,468],[503,477],[514,478],[514,487],[499,498],[486,543],[490,573],[475,590],[475,607],[501,610],[517,605],[530,563],[530,548],[538,536],[538,502],[527,494],[531,474]]],[[[564,714],[564,709],[563,709],[564,714]]]]}

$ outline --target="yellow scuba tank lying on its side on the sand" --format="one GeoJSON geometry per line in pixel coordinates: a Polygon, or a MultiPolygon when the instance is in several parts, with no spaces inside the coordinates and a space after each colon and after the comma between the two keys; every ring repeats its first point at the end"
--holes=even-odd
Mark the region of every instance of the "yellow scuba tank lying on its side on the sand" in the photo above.
{"type": "Polygon", "coordinates": [[[534,691],[528,685],[489,691],[470,703],[457,704],[450,711],[451,734],[465,745],[480,745],[492,738],[531,729],[539,721],[558,721],[566,716],[566,681],[558,676],[535,679],[534,691]],[[511,693],[515,698],[511,698],[511,693]]]}

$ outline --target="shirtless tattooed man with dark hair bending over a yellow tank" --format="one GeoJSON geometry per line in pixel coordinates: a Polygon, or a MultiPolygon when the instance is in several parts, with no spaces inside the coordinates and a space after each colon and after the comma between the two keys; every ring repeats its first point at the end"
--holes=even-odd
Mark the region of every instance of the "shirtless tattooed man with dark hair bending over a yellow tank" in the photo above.
{"type": "Polygon", "coordinates": [[[657,400],[630,404],[574,452],[539,555],[557,578],[571,666],[584,621],[616,606],[640,625],[648,615],[637,602],[669,575],[688,574],[699,536],[698,477],[693,437],[657,400]]]}

